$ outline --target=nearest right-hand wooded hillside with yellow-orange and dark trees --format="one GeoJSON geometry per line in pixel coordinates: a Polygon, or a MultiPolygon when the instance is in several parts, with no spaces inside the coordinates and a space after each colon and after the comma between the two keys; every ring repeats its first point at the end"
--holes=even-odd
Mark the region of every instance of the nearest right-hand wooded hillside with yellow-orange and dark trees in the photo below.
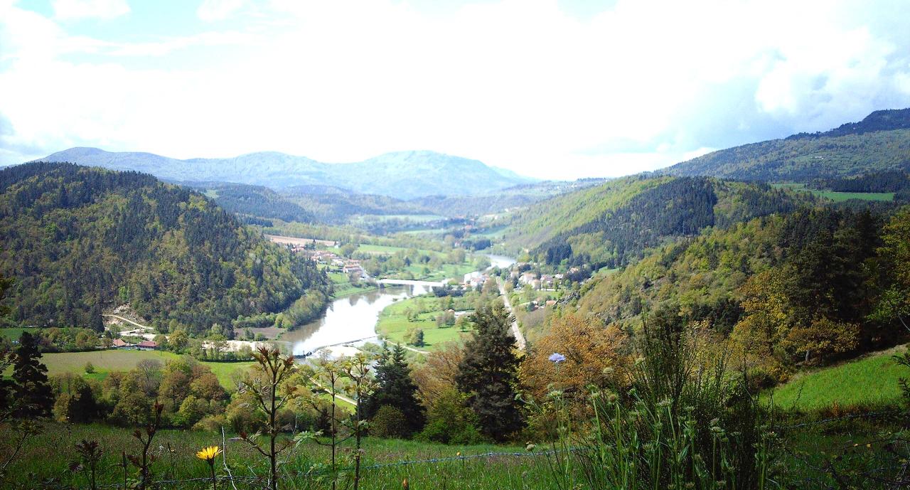
{"type": "MultiPolygon", "coordinates": [[[[910,207],[798,209],[676,240],[582,288],[582,312],[635,328],[668,308],[729,335],[778,378],[902,339],[910,207]]],[[[774,383],[774,380],[759,380],[774,383]]]]}

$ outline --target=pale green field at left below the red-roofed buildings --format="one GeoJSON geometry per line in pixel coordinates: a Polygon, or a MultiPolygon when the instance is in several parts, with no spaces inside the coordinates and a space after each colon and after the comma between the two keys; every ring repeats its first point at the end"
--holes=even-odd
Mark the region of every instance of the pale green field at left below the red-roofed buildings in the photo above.
{"type": "MultiPolygon", "coordinates": [[[[112,371],[129,371],[139,361],[155,359],[162,363],[177,359],[174,352],[166,351],[93,351],[93,352],[51,352],[41,357],[48,374],[74,373],[86,378],[103,380],[112,371]],[[86,374],[86,362],[95,366],[95,373],[86,374]]],[[[199,362],[211,368],[218,381],[227,389],[233,388],[231,373],[247,369],[253,362],[199,362]]]]}

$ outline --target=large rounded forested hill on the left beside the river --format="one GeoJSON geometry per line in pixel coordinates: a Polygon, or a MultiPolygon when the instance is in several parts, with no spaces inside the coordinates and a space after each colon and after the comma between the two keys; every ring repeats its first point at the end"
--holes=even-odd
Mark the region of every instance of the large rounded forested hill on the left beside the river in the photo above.
{"type": "Polygon", "coordinates": [[[152,176],[30,163],[0,171],[0,273],[15,322],[101,328],[130,303],[164,328],[321,308],[327,281],[203,195],[152,176]],[[303,301],[303,299],[308,301],[303,301]],[[298,301],[298,299],[301,299],[298,301]],[[297,305],[296,305],[297,306],[297,305]]]}

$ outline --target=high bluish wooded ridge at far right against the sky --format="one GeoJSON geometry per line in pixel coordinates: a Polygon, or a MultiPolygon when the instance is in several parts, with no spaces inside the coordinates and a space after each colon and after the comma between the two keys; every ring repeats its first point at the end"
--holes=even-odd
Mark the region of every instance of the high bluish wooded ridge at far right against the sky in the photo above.
{"type": "Polygon", "coordinates": [[[876,111],[824,133],[714,151],[661,171],[675,176],[807,182],[910,169],[910,108],[876,111]]]}

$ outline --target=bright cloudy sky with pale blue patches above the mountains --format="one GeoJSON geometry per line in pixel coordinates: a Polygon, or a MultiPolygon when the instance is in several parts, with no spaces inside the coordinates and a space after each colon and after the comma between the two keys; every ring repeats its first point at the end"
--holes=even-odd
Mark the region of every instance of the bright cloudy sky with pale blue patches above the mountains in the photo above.
{"type": "Polygon", "coordinates": [[[910,2],[0,0],[0,164],[430,149],[613,177],[910,107],[910,2]]]}

